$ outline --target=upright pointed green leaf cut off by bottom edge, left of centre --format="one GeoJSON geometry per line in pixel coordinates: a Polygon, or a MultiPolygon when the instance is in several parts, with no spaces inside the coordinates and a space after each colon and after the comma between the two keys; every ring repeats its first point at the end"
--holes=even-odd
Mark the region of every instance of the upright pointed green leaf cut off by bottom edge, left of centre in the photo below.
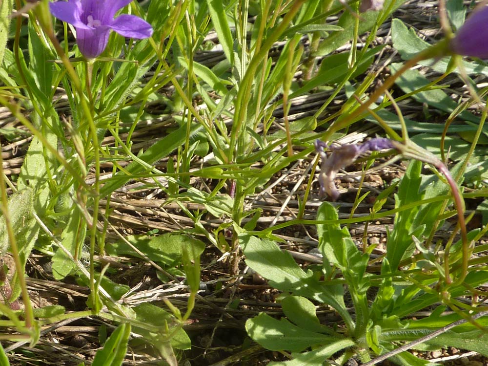
{"type": "Polygon", "coordinates": [[[117,327],[108,337],[103,348],[98,350],[93,359],[93,366],[120,366],[127,352],[130,335],[130,324],[124,323],[117,327]]]}

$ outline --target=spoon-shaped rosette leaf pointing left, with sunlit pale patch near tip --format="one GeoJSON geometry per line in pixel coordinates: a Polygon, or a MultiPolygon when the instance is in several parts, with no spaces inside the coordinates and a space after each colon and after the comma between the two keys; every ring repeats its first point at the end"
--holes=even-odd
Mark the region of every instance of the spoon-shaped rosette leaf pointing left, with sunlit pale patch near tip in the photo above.
{"type": "Polygon", "coordinates": [[[265,313],[248,319],[245,329],[249,337],[272,351],[301,352],[318,344],[328,344],[337,338],[300,328],[285,319],[277,320],[265,313]]]}

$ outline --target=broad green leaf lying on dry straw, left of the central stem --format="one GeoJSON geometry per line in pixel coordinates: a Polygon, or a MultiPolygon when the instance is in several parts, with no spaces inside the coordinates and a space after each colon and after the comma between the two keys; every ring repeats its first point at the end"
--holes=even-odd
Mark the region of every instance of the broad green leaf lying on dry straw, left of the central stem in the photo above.
{"type": "MultiPolygon", "coordinates": [[[[205,244],[202,241],[183,234],[166,233],[150,237],[137,235],[126,237],[126,240],[149,259],[167,266],[175,266],[181,263],[183,247],[188,251],[189,259],[192,261],[199,258],[203,253],[203,249],[205,249],[205,244]]],[[[107,243],[106,249],[110,255],[130,255],[136,258],[143,258],[124,240],[114,244],[107,243]]]]}

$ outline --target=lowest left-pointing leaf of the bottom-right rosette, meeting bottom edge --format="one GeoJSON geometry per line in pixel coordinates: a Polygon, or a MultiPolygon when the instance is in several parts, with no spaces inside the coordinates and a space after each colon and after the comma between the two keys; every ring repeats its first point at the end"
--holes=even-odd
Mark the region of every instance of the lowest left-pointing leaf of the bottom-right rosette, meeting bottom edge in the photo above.
{"type": "Polygon", "coordinates": [[[268,366],[322,366],[324,361],[330,358],[334,353],[339,352],[347,347],[354,346],[350,339],[341,339],[339,341],[323,345],[310,352],[292,354],[293,360],[282,362],[270,362],[268,366]]]}

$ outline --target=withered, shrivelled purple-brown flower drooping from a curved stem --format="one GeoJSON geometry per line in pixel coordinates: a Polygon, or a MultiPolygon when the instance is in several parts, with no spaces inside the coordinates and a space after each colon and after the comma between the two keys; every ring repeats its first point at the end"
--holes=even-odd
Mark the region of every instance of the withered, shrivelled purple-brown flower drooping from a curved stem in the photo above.
{"type": "Polygon", "coordinates": [[[391,140],[377,137],[373,138],[364,144],[348,144],[340,147],[327,146],[321,140],[315,141],[315,150],[322,158],[322,166],[320,168],[319,183],[321,194],[325,193],[333,200],[339,198],[339,191],[335,185],[334,179],[340,169],[352,164],[356,158],[366,151],[379,151],[383,149],[393,149],[394,145],[391,140]],[[327,157],[325,148],[332,150],[332,154],[327,157]]]}

